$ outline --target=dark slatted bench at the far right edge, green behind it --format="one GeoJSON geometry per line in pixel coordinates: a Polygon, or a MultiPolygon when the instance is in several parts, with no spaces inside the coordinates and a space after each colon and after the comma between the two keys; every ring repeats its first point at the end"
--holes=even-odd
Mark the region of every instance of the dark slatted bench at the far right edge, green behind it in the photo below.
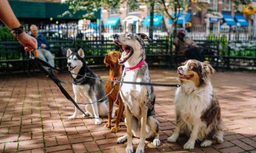
{"type": "Polygon", "coordinates": [[[256,41],[228,41],[223,53],[224,68],[256,69],[256,41]]]}

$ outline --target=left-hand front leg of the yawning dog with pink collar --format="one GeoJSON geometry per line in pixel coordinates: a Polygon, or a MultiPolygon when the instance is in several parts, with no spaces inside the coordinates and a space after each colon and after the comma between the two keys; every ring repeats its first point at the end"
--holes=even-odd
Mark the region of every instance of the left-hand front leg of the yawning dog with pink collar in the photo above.
{"type": "Polygon", "coordinates": [[[128,106],[125,106],[126,111],[126,126],[127,126],[127,147],[126,153],[133,152],[133,145],[132,145],[132,112],[128,106]]]}

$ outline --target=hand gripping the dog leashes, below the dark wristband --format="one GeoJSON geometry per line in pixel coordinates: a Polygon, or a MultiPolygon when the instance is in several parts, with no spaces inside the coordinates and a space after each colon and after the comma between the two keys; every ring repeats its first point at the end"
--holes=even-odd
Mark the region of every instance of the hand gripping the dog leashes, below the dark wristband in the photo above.
{"type": "Polygon", "coordinates": [[[20,44],[24,46],[25,51],[32,51],[37,49],[37,39],[32,36],[29,36],[26,32],[20,33],[17,36],[20,44]]]}

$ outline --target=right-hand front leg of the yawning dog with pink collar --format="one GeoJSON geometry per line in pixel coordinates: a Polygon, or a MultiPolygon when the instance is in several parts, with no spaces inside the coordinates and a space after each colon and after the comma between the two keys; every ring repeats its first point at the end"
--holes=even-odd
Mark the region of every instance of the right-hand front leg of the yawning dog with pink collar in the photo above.
{"type": "Polygon", "coordinates": [[[148,108],[142,108],[141,110],[141,138],[139,139],[139,145],[136,149],[136,153],[143,153],[146,139],[146,125],[147,125],[147,112],[148,108]]]}

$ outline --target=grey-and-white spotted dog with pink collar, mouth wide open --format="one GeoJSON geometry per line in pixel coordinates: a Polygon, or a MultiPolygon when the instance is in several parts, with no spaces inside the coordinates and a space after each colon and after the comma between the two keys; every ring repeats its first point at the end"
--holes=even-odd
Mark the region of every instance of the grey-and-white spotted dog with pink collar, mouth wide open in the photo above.
{"type": "MultiPolygon", "coordinates": [[[[119,64],[124,65],[123,81],[150,83],[148,65],[145,63],[144,41],[150,40],[144,33],[113,35],[114,43],[119,45],[122,55],[119,64]]],[[[126,152],[133,152],[132,136],[140,137],[136,152],[144,152],[145,139],[154,137],[153,143],[160,145],[159,122],[154,112],[156,94],[153,86],[123,84],[121,98],[125,106],[127,134],[118,138],[117,143],[127,139],[126,152]]]]}

